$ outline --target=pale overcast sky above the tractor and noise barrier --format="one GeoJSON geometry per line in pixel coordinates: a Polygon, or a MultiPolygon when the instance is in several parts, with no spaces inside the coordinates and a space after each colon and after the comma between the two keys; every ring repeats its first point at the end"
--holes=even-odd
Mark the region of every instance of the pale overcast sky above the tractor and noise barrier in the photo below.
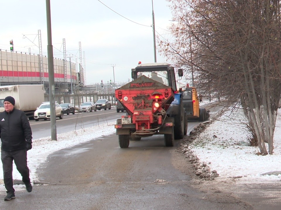
{"type": "MultiPolygon", "coordinates": [[[[86,83],[103,80],[115,82],[131,79],[131,69],[139,61],[154,62],[151,0],[51,0],[52,45],[54,57],[63,59],[63,38],[67,54],[79,62],[79,42],[82,57],[85,51],[86,83]],[[104,6],[102,3],[114,10],[104,6]],[[130,21],[131,20],[131,21],[130,21]],[[133,22],[132,22],[133,21],[133,22]],[[136,22],[136,23],[135,23],[136,22]]],[[[172,14],[166,0],[153,0],[155,30],[169,36],[167,26],[172,14]]],[[[42,51],[47,55],[46,1],[0,1],[0,49],[38,54],[38,29],[41,30],[42,51]],[[25,35],[25,36],[24,36],[25,35]]],[[[156,44],[157,45],[157,44],[156,44]]],[[[157,62],[165,62],[157,52],[157,62]]]]}

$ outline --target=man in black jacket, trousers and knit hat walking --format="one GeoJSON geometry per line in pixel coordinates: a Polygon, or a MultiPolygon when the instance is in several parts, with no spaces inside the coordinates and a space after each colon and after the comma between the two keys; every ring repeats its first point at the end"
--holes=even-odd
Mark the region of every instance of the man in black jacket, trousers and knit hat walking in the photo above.
{"type": "Polygon", "coordinates": [[[14,106],[15,99],[7,96],[4,99],[5,111],[0,113],[1,161],[7,190],[5,201],[15,198],[13,161],[23,178],[26,190],[32,191],[27,166],[27,150],[32,148],[32,132],[25,113],[15,109],[14,106]]]}

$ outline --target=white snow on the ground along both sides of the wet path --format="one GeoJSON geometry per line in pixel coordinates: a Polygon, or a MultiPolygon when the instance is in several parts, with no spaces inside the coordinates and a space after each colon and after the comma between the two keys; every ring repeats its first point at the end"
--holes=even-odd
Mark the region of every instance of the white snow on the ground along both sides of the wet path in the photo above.
{"type": "MultiPolygon", "coordinates": [[[[202,101],[200,105],[208,102],[202,101]]],[[[206,162],[211,170],[219,174],[217,179],[229,177],[242,178],[240,181],[280,181],[281,180],[281,123],[280,111],[277,115],[274,154],[256,155],[257,147],[239,146],[239,141],[247,141],[246,130],[241,127],[244,117],[241,111],[230,113],[226,111],[220,118],[212,122],[190,145],[189,149],[206,162]],[[229,118],[229,115],[232,115],[229,118]]],[[[87,129],[79,129],[65,134],[59,134],[57,141],[51,137],[32,139],[32,149],[28,151],[28,167],[31,181],[38,180],[35,171],[40,164],[47,160],[47,156],[57,150],[74,146],[85,141],[115,133],[115,121],[96,125],[87,129]]],[[[183,158],[185,158],[183,156],[183,158]]],[[[0,162],[2,169],[2,163],[0,162]]],[[[21,176],[13,166],[13,179],[21,180],[21,176]]],[[[3,171],[0,170],[0,183],[3,185],[3,171]]]]}

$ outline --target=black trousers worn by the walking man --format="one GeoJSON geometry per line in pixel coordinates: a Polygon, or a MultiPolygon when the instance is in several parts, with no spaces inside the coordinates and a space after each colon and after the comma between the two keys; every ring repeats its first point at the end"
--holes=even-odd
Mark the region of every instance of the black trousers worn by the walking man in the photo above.
{"type": "Polygon", "coordinates": [[[16,164],[18,172],[23,177],[23,183],[30,183],[29,168],[27,166],[26,150],[4,151],[1,150],[1,160],[4,172],[4,184],[7,193],[15,192],[13,188],[13,161],[16,164]]]}

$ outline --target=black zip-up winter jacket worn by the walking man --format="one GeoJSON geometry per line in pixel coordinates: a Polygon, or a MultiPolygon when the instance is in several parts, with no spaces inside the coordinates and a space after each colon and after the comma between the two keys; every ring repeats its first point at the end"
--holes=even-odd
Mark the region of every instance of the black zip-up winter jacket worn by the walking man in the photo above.
{"type": "Polygon", "coordinates": [[[14,151],[26,148],[32,143],[32,132],[28,119],[23,111],[13,109],[0,113],[1,150],[14,151]]]}

